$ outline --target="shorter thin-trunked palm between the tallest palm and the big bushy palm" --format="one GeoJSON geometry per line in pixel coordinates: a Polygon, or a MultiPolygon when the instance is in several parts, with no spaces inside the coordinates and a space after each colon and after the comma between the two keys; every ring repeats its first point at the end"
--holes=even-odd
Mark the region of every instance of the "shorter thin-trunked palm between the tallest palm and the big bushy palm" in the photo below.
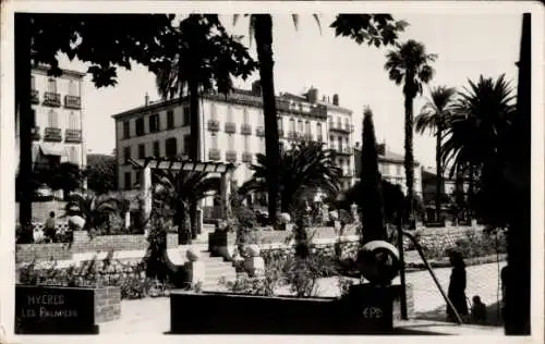
{"type": "Polygon", "coordinates": [[[435,219],[440,220],[443,191],[441,142],[445,121],[451,115],[451,106],[456,96],[456,88],[437,86],[432,89],[432,99],[422,108],[415,119],[415,130],[423,134],[425,131],[435,132],[435,219]]]}

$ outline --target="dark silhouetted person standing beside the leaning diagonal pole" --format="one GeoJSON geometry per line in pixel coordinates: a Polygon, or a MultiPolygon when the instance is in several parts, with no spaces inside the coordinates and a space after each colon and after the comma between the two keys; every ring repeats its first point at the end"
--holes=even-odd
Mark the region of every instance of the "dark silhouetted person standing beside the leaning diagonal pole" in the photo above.
{"type": "MultiPolygon", "coordinates": [[[[463,261],[462,255],[457,250],[450,251],[449,258],[450,265],[452,266],[452,272],[450,274],[447,296],[455,309],[463,318],[469,314],[468,300],[465,297],[465,262],[463,261]]],[[[447,305],[447,320],[457,320],[456,314],[449,305],[447,305]]]]}

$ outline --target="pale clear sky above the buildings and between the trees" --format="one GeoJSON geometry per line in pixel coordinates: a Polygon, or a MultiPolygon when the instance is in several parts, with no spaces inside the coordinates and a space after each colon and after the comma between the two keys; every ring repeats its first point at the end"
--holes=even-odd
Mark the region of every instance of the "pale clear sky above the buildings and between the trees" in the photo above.
{"type": "MultiPolygon", "coordinates": [[[[429,86],[446,85],[460,90],[468,79],[480,75],[497,78],[501,74],[517,82],[521,15],[513,14],[396,14],[396,20],[409,23],[400,41],[415,39],[425,45],[427,52],[438,54],[433,66],[436,71],[429,86]]],[[[353,111],[354,142],[361,140],[363,109],[370,106],[374,113],[378,142],[388,149],[403,153],[403,95],[401,87],[388,79],[384,70],[389,48],[360,46],[350,38],[335,37],[329,27],[334,21],[329,13],[320,14],[322,33],[314,19],[300,15],[295,29],[291,15],[274,16],[274,54],[276,93],[302,93],[314,86],[322,95],[339,95],[342,107],[353,111]]],[[[229,32],[244,35],[250,45],[249,20],[241,17],[232,25],[232,16],[221,15],[229,32]]],[[[255,41],[251,53],[256,58],[255,41]]],[[[85,64],[61,57],[61,66],[85,71],[85,64]]],[[[246,82],[235,81],[238,87],[249,88],[257,72],[246,82]]],[[[90,81],[90,77],[86,77],[90,81]]],[[[89,152],[111,153],[114,143],[114,122],[111,115],[144,103],[147,93],[157,100],[155,77],[147,69],[133,64],[131,71],[118,69],[116,87],[96,89],[90,82],[83,89],[84,127],[89,152]]],[[[428,99],[428,87],[415,99],[417,114],[428,99]]],[[[425,167],[435,165],[434,137],[415,135],[414,153],[425,167]]]]}

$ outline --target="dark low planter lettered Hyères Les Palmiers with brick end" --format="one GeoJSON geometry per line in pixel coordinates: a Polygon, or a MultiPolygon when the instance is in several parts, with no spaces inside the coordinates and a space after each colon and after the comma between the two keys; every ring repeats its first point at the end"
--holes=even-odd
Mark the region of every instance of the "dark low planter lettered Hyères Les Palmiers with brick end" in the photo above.
{"type": "Polygon", "coordinates": [[[121,291],[117,286],[15,286],[17,334],[98,334],[97,323],[120,316],[121,291]]]}

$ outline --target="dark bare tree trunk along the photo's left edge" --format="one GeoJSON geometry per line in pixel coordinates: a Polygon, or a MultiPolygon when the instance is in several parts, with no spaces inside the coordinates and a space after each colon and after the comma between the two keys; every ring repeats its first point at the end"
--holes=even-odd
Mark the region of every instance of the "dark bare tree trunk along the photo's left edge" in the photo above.
{"type": "MultiPolygon", "coordinates": [[[[31,17],[28,14],[15,14],[15,111],[19,110],[19,177],[21,186],[19,220],[24,229],[23,242],[32,242],[32,189],[28,181],[32,177],[32,128],[34,111],[31,105],[31,17]]],[[[17,115],[17,114],[15,114],[17,115]]]]}

